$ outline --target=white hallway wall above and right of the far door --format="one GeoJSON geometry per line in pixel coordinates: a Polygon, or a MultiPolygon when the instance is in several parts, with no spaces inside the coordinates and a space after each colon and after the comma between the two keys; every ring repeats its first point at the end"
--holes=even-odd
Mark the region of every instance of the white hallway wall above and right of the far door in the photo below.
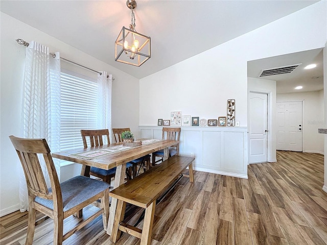
{"type": "Polygon", "coordinates": [[[324,136],[318,134],[323,127],[323,90],[313,92],[277,93],[277,102],[303,101],[302,149],[303,152],[323,154],[324,136]]]}

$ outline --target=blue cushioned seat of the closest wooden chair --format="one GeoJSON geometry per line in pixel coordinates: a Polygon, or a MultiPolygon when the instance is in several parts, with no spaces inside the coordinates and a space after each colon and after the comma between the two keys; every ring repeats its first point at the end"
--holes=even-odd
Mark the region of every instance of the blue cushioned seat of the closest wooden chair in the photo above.
{"type": "MultiPolygon", "coordinates": [[[[60,184],[60,188],[62,194],[63,211],[65,212],[76,207],[109,187],[110,185],[106,182],[90,179],[85,176],[76,176],[62,182],[60,184]]],[[[52,192],[51,188],[49,188],[49,191],[52,192]]],[[[52,200],[36,197],[35,202],[53,209],[52,200]]]]}

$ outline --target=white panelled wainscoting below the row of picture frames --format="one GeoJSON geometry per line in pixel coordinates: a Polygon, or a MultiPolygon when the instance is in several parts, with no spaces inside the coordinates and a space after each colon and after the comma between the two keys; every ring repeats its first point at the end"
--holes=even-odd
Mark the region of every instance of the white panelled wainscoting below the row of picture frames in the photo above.
{"type": "MultiPolygon", "coordinates": [[[[162,126],[138,126],[141,138],[161,139],[162,126]]],[[[195,156],[194,170],[247,179],[247,127],[181,127],[179,155],[195,156]]]]}

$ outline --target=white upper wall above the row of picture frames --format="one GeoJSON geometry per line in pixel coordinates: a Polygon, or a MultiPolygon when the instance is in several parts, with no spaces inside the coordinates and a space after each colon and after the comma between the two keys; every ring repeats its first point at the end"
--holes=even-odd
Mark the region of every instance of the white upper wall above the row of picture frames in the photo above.
{"type": "Polygon", "coordinates": [[[246,127],[247,61],[323,47],[325,5],[318,2],[141,79],[139,124],[156,125],[174,110],[218,118],[226,115],[226,101],[235,99],[236,120],[246,127]]]}

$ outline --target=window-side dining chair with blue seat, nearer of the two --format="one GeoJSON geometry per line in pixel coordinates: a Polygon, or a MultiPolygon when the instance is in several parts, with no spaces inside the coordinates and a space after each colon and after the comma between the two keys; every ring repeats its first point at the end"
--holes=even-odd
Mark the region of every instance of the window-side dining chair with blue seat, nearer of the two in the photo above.
{"type": "MultiPolygon", "coordinates": [[[[110,144],[108,129],[95,129],[95,130],[82,129],[81,135],[83,139],[84,148],[88,147],[87,139],[89,139],[91,147],[100,146],[103,145],[104,143],[110,144]]],[[[126,176],[128,180],[131,179],[132,176],[132,171],[131,171],[132,166],[133,166],[132,163],[126,164],[126,176]]],[[[111,178],[115,176],[115,173],[116,173],[116,167],[110,168],[108,170],[98,167],[90,167],[90,175],[102,179],[104,182],[107,182],[109,185],[111,184],[111,178]]]]}

